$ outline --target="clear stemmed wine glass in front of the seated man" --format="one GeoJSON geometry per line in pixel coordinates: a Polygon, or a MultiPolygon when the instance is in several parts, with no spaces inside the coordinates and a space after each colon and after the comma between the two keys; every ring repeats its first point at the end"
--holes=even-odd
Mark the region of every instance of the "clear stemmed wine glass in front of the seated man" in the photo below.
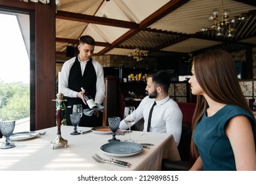
{"type": "Polygon", "coordinates": [[[134,140],[131,139],[131,126],[132,124],[134,124],[136,120],[135,113],[132,113],[134,112],[134,110],[135,110],[135,106],[124,107],[124,122],[129,126],[129,139],[125,141],[129,141],[129,142],[135,142],[134,140]]]}

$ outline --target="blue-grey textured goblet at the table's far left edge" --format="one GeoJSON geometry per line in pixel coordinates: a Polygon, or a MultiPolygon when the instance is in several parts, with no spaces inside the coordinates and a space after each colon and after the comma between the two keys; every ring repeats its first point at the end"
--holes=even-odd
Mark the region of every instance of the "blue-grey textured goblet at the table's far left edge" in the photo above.
{"type": "Polygon", "coordinates": [[[11,149],[15,147],[14,143],[10,143],[10,136],[15,127],[15,121],[0,122],[0,131],[5,137],[5,143],[0,145],[0,149],[11,149]]]}

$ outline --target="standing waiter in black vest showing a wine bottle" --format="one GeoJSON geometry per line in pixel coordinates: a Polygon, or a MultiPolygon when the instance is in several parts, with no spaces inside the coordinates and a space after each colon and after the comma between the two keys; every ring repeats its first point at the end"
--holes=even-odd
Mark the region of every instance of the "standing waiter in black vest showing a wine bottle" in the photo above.
{"type": "MultiPolygon", "coordinates": [[[[83,35],[79,39],[79,54],[67,60],[61,70],[61,93],[68,97],[66,108],[66,124],[72,126],[70,114],[73,104],[82,104],[83,109],[89,108],[84,101],[84,93],[88,93],[95,103],[102,104],[105,97],[103,67],[93,60],[95,40],[90,35],[83,35]],[[82,91],[82,88],[84,90],[82,91]]],[[[99,112],[92,116],[83,114],[79,126],[96,127],[102,126],[102,118],[99,112]]]]}

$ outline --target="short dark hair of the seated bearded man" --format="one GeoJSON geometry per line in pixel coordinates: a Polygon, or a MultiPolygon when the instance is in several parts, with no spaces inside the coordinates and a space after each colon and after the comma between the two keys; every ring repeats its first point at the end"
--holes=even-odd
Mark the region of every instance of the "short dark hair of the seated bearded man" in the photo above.
{"type": "Polygon", "coordinates": [[[155,85],[163,87],[163,90],[168,93],[170,86],[170,74],[166,70],[153,70],[147,75],[147,78],[152,78],[155,85]]]}

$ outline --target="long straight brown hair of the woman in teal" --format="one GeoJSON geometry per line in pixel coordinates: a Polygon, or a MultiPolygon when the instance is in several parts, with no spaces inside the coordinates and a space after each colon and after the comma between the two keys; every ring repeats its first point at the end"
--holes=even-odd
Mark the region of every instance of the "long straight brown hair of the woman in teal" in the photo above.
{"type": "MultiPolygon", "coordinates": [[[[193,58],[195,78],[205,93],[218,103],[233,104],[247,110],[254,118],[240,87],[234,61],[225,51],[209,51],[193,58]]],[[[192,135],[203,112],[208,107],[205,97],[197,95],[197,105],[192,119],[192,135]]],[[[192,155],[199,156],[192,139],[192,155]]]]}

